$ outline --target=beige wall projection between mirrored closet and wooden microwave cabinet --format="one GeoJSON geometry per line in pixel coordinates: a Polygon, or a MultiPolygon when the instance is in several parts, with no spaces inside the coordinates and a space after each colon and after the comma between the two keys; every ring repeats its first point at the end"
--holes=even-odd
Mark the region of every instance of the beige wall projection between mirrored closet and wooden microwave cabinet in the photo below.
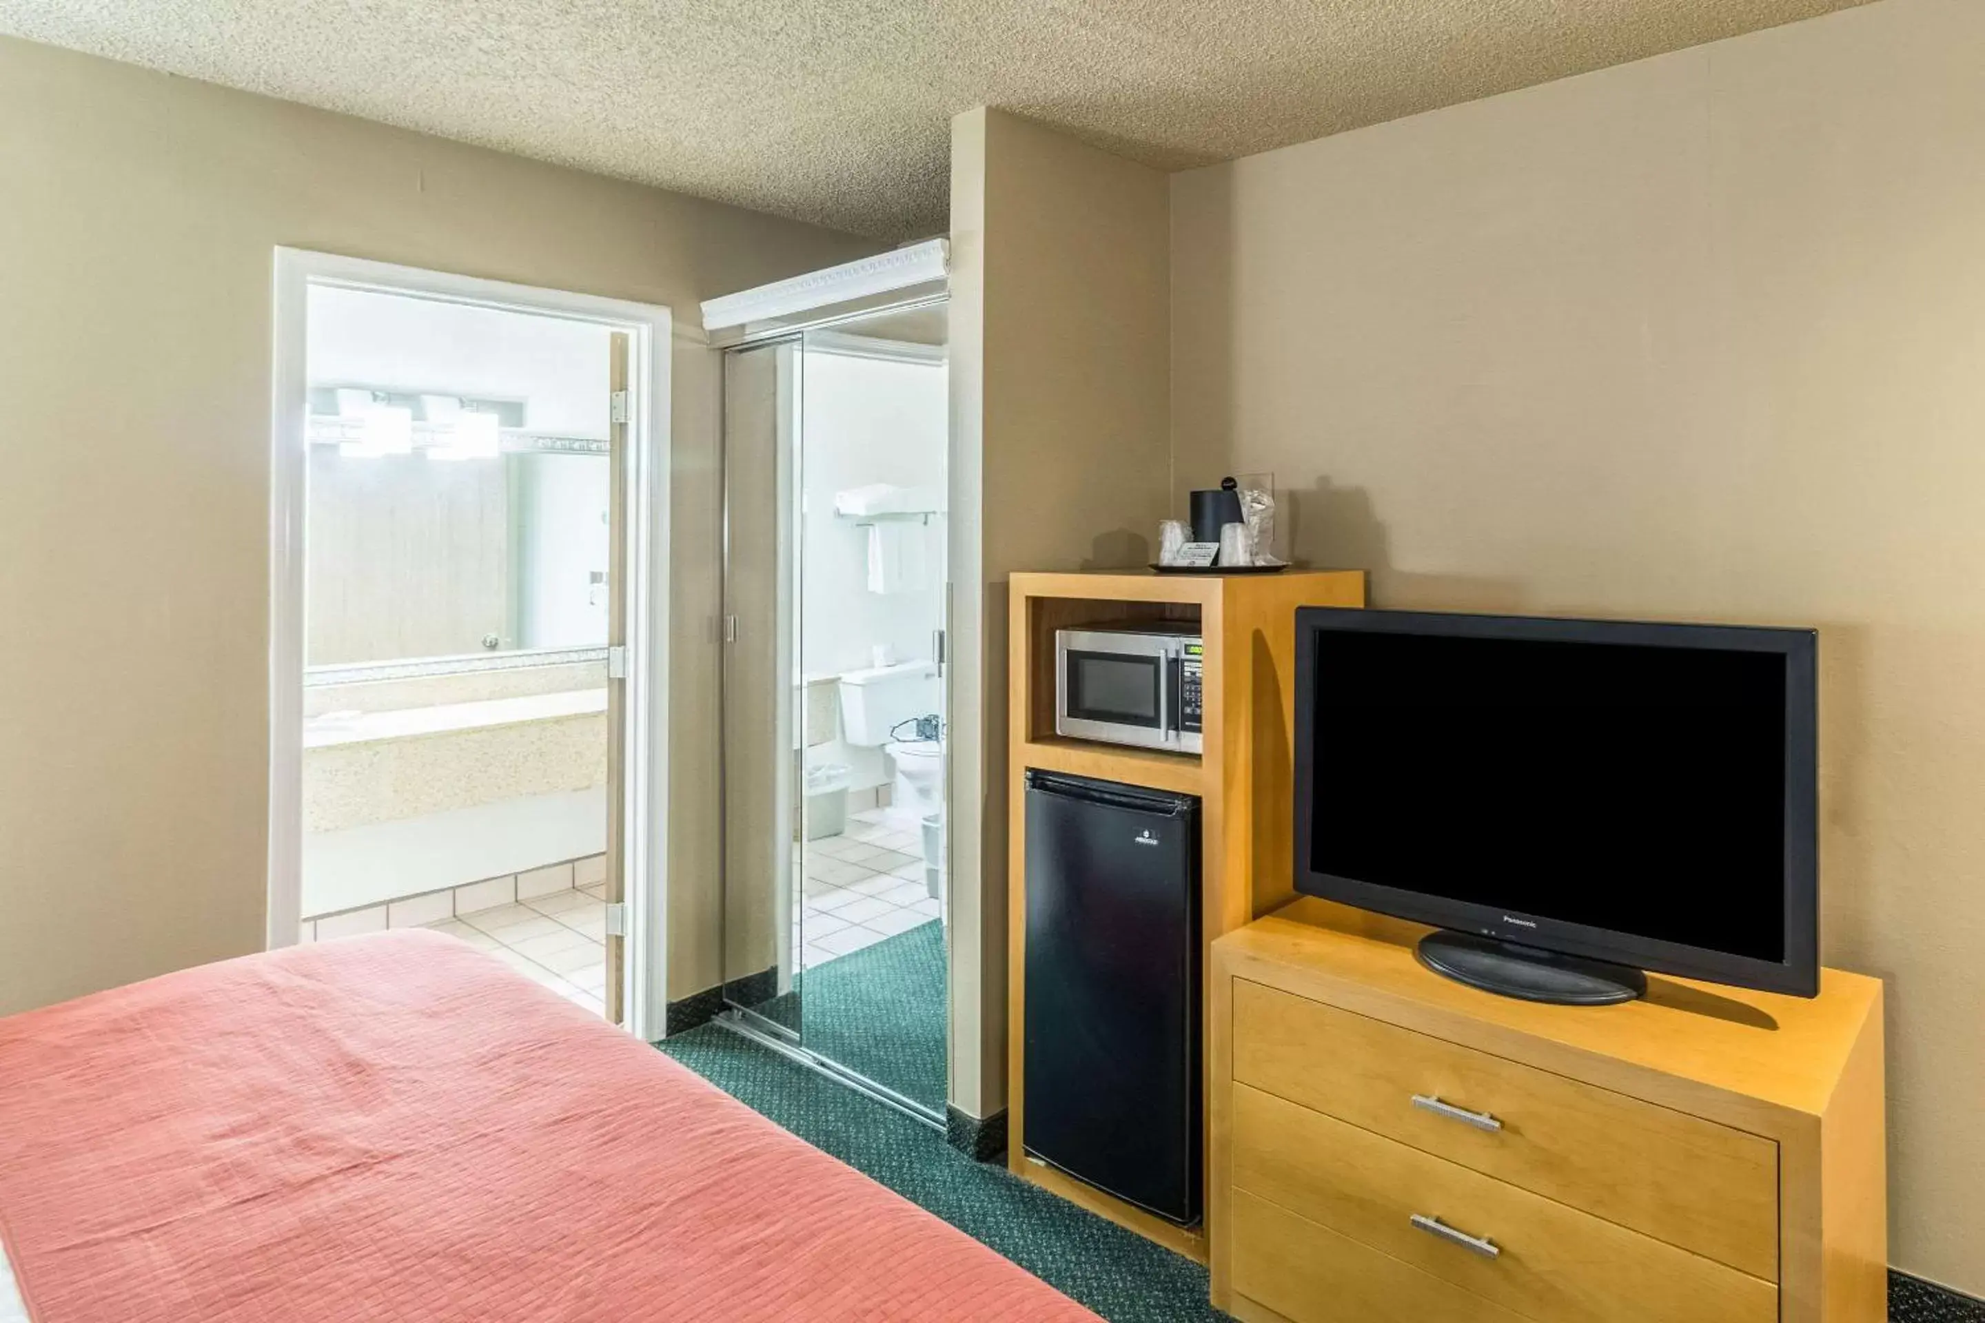
{"type": "Polygon", "coordinates": [[[1006,575],[1151,559],[1167,184],[1000,111],[951,123],[951,1099],[1006,1105],[1006,575]]]}

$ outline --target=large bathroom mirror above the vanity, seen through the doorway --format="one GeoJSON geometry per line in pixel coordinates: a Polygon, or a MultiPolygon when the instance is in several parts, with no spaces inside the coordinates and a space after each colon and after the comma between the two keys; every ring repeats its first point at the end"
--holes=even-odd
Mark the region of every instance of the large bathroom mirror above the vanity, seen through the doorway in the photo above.
{"type": "Polygon", "coordinates": [[[609,331],[347,288],[308,317],[306,666],[605,647],[609,331]]]}

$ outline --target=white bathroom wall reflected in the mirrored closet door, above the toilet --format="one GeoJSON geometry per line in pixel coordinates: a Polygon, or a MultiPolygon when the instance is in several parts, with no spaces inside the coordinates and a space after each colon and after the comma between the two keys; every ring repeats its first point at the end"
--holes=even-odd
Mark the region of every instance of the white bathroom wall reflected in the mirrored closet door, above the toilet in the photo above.
{"type": "MultiPolygon", "coordinates": [[[[945,516],[929,524],[897,520],[897,538],[925,569],[915,585],[871,593],[869,530],[834,514],[834,494],[875,482],[925,488],[945,502],[947,395],[941,363],[854,357],[808,347],[800,369],[802,482],[802,670],[808,680],[873,666],[873,649],[895,661],[929,661],[931,631],[943,625],[945,516]]],[[[935,712],[935,704],[933,704],[935,712]]],[[[887,780],[879,748],[842,742],[808,752],[810,764],[838,762],[854,785],[887,780]]]]}

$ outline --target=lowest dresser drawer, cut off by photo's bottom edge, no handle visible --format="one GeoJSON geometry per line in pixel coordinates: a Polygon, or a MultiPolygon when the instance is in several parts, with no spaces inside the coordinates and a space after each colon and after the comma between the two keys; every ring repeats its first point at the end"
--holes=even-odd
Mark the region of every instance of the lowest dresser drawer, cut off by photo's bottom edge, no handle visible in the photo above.
{"type": "Polygon", "coordinates": [[[1245,1190],[1227,1216],[1233,1289],[1292,1323],[1526,1323],[1245,1190]]]}

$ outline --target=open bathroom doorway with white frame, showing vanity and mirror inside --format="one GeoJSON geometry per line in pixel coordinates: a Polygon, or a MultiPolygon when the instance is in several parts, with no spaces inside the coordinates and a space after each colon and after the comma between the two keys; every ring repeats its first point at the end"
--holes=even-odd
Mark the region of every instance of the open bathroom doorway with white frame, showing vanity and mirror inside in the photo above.
{"type": "Polygon", "coordinates": [[[667,313],[286,256],[270,940],[437,928],[645,1031],[667,313]]]}

